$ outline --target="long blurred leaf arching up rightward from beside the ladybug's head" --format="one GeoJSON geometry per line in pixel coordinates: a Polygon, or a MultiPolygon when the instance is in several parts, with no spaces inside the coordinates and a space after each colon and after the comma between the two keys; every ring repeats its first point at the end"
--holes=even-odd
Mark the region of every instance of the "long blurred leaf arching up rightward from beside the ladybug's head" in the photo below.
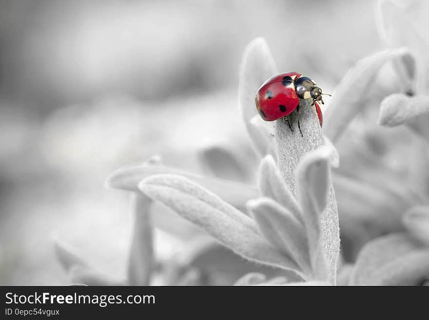
{"type": "Polygon", "coordinates": [[[391,59],[408,54],[405,49],[386,50],[358,61],[332,93],[331,103],[323,114],[323,132],[336,143],[351,120],[362,109],[370,86],[380,68],[391,59]],[[365,80],[363,80],[365,79],[365,80]]]}

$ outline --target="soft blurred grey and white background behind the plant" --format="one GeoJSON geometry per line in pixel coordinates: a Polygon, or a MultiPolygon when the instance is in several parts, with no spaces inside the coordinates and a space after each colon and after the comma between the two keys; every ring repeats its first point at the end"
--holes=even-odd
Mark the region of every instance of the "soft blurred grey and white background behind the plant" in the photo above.
{"type": "MultiPolygon", "coordinates": [[[[238,68],[259,36],[328,93],[382,49],[370,0],[0,0],[0,284],[68,283],[55,237],[123,275],[129,194],[105,177],[153,154],[202,172],[208,143],[247,152],[238,68]]],[[[159,231],[156,249],[181,243],[159,231]]]]}

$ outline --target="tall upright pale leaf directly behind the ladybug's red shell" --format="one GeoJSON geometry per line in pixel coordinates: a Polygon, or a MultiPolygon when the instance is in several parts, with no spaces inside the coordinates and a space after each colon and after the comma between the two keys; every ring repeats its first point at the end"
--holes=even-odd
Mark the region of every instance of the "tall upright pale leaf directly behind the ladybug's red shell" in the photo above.
{"type": "Polygon", "coordinates": [[[269,144],[264,143],[264,135],[259,136],[257,127],[250,124],[256,115],[254,97],[258,88],[275,74],[275,63],[265,39],[254,39],[244,50],[240,65],[238,106],[255,150],[261,156],[267,154],[270,148],[267,148],[269,144]]]}

